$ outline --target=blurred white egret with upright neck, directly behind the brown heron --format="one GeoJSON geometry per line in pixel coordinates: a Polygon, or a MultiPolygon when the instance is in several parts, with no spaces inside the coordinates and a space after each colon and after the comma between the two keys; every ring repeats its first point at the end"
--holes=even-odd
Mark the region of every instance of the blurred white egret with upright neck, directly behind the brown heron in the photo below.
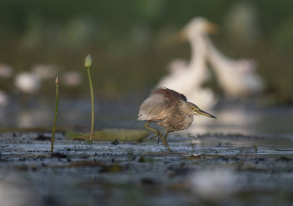
{"type": "Polygon", "coordinates": [[[182,41],[191,43],[191,60],[187,64],[182,60],[171,63],[168,76],[162,78],[156,87],[167,87],[184,93],[190,102],[194,102],[207,110],[217,104],[215,93],[211,89],[203,88],[202,84],[210,78],[210,71],[206,65],[208,48],[206,34],[215,32],[215,24],[202,17],[192,19],[180,32],[182,41]]]}

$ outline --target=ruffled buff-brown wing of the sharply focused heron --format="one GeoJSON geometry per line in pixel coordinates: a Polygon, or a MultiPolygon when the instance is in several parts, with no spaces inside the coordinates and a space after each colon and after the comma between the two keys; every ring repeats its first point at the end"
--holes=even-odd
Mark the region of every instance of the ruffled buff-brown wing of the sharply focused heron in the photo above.
{"type": "Polygon", "coordinates": [[[140,106],[138,120],[158,121],[169,116],[176,102],[186,102],[186,97],[176,91],[160,88],[151,93],[140,106]]]}

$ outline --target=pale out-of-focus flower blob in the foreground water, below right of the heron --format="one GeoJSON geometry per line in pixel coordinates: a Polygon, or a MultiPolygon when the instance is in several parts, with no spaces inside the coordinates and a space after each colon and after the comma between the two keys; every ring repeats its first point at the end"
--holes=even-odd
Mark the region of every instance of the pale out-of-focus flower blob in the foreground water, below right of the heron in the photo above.
{"type": "Polygon", "coordinates": [[[237,174],[227,169],[202,170],[189,176],[195,195],[209,203],[219,203],[237,192],[237,179],[237,174]]]}

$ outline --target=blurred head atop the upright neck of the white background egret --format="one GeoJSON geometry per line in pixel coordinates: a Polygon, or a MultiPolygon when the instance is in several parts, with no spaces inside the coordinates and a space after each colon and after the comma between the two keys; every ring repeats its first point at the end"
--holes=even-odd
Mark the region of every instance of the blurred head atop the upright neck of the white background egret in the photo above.
{"type": "Polygon", "coordinates": [[[203,17],[195,17],[179,32],[177,37],[180,41],[191,41],[197,35],[216,34],[217,31],[218,26],[215,23],[203,17]]]}

